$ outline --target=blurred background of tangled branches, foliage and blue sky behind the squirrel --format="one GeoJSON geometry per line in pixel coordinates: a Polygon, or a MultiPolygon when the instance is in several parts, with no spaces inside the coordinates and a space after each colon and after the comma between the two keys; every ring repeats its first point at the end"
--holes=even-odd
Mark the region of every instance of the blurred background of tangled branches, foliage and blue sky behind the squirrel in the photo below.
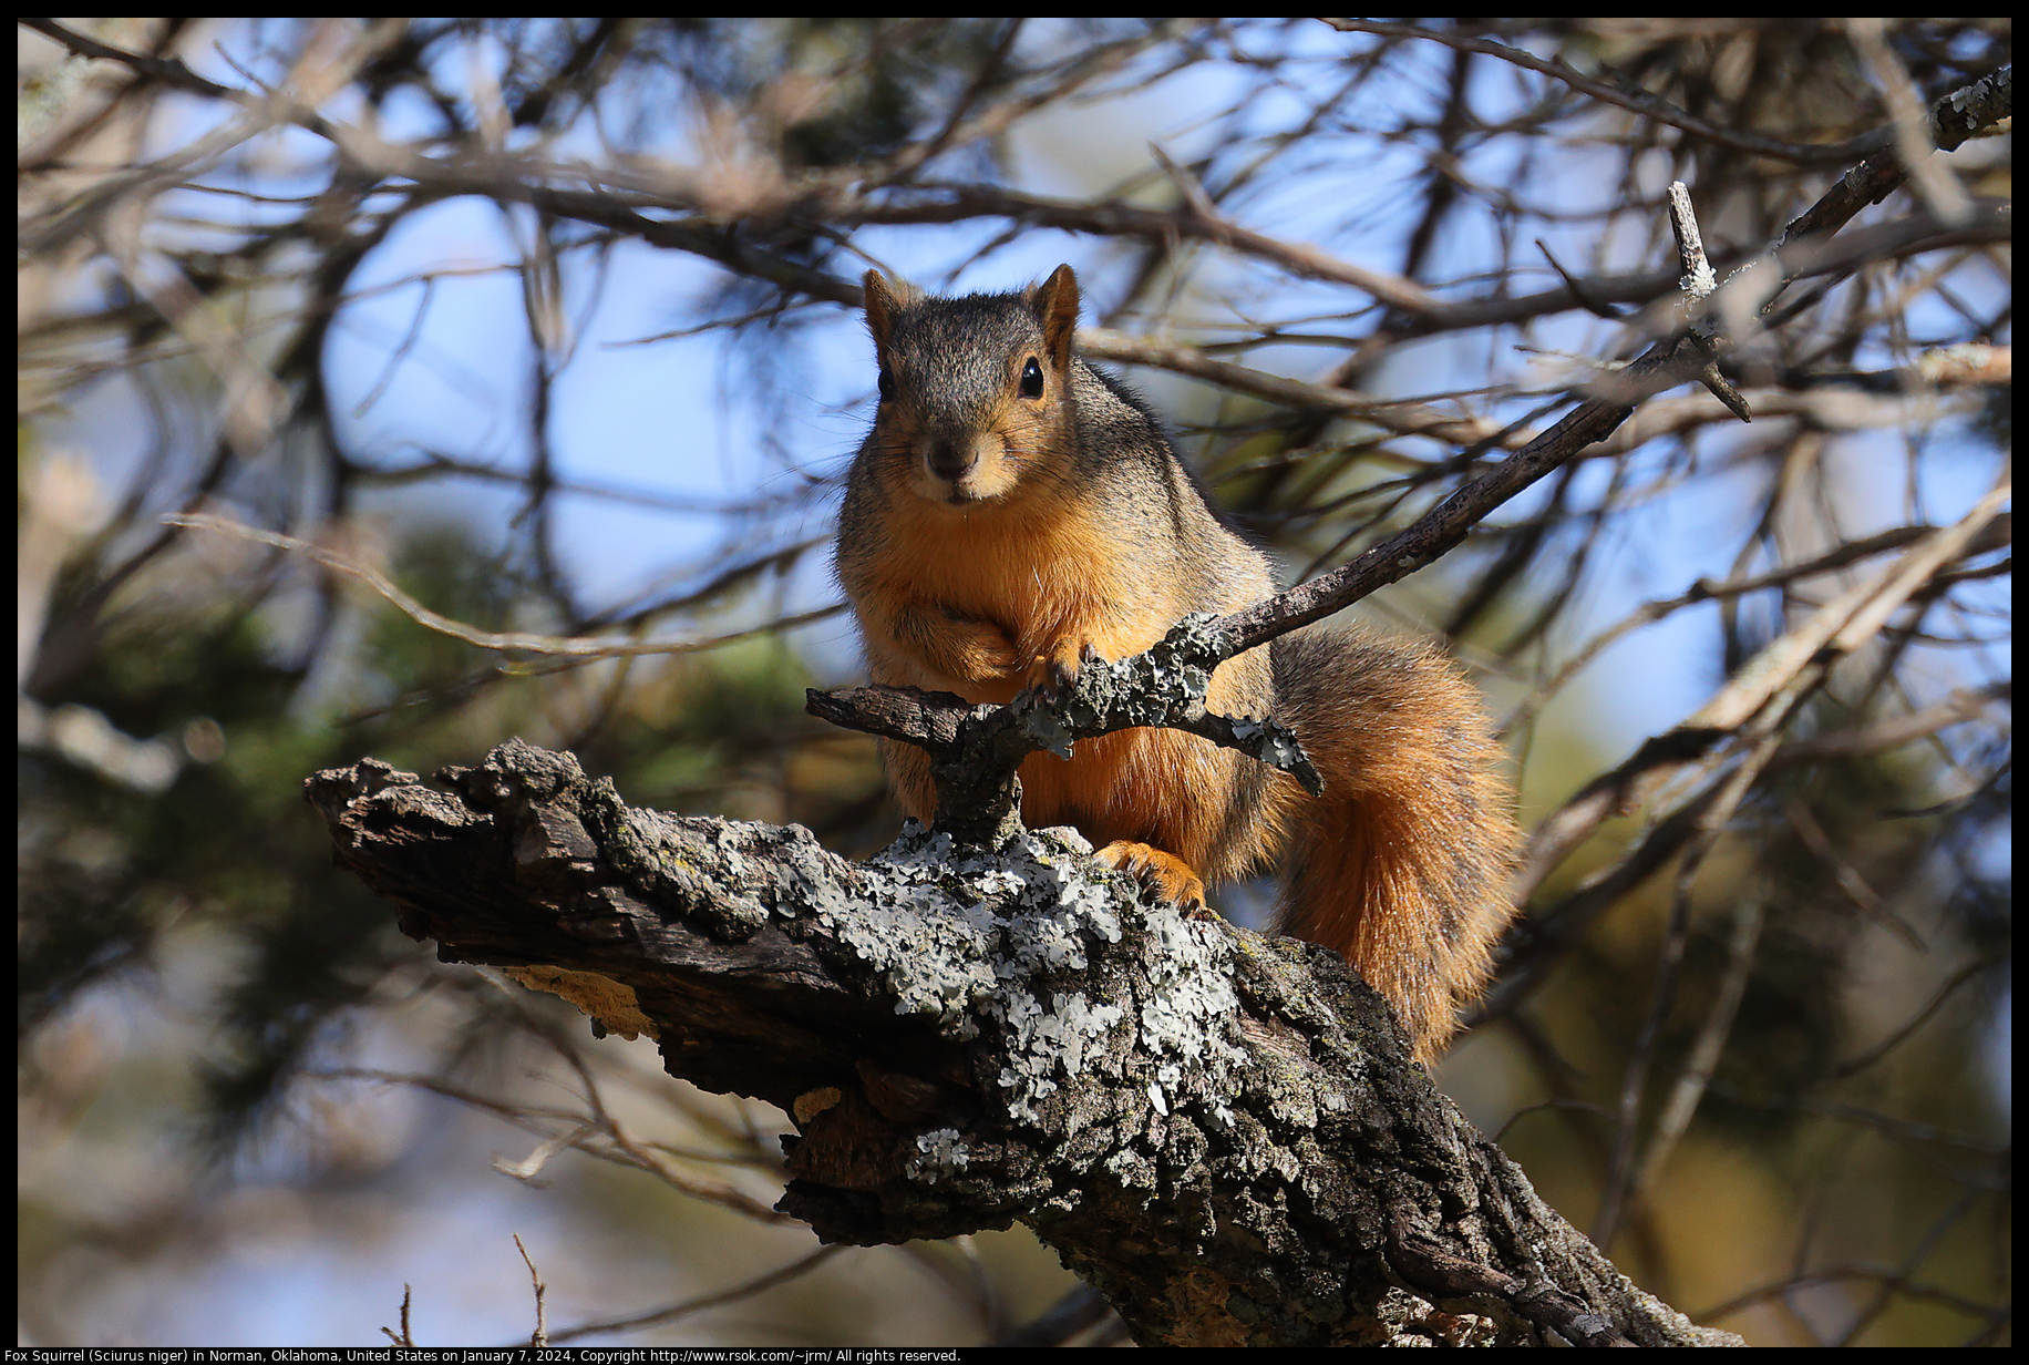
{"type": "MultiPolygon", "coordinates": [[[[1116,1341],[1021,1229],[818,1249],[769,1211],[783,1115],[436,965],[298,792],[521,735],[872,851],[870,743],[801,711],[856,668],[826,559],[868,264],[1077,264],[1088,351],[1299,577],[1648,341],[1670,179],[1725,268],[2011,59],[2007,20],[1343,28],[24,20],[20,1343],[526,1341],[513,1233],[552,1341],[980,1343],[1051,1304],[1039,1339],[1116,1341]],[[475,630],[720,644],[485,652],[164,514],[475,630]]],[[[1992,132],[1729,360],[1751,427],[1660,396],[1361,607],[1477,670],[1524,823],[2005,477],[1992,132]]],[[[2007,544],[1928,577],[1708,843],[1737,752],[1532,886],[1518,985],[1441,1068],[1755,1343],[2011,1339],[2007,544]]]]}

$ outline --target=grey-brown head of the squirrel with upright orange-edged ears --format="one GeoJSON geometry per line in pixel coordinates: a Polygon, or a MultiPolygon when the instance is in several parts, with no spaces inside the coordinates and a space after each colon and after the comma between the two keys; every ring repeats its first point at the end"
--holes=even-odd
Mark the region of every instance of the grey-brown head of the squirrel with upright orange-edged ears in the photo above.
{"type": "Polygon", "coordinates": [[[877,473],[925,502],[972,508],[1071,459],[1069,266],[1019,295],[921,297],[866,272],[881,362],[868,451],[877,473]]]}

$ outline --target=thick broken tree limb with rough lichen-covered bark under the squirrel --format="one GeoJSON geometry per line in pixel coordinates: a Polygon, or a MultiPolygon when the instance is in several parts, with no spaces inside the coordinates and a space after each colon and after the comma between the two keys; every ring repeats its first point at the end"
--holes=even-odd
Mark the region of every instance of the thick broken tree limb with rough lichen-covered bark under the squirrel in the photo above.
{"type": "Polygon", "coordinates": [[[1739,1341],[1544,1207],[1335,955],[1150,904],[1073,831],[850,863],[519,741],[440,778],[306,794],[440,959],[785,1109],[781,1207],[826,1241],[1019,1219],[1144,1345],[1739,1341]]]}

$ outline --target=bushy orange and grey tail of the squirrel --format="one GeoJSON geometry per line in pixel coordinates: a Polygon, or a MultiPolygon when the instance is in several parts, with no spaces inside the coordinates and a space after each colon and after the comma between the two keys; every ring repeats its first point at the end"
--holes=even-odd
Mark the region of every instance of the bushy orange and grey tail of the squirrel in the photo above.
{"type": "Polygon", "coordinates": [[[1428,1062],[1514,908],[1514,792],[1479,693],[1437,648],[1311,628],[1274,644],[1276,717],[1325,778],[1290,823],[1278,928],[1343,955],[1428,1062]]]}

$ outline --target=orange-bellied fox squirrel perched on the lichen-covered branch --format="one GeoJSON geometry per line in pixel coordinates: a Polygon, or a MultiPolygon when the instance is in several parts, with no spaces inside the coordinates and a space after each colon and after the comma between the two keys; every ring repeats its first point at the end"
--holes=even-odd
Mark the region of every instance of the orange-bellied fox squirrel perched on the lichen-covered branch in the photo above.
{"type": "MultiPolygon", "coordinates": [[[[966,299],[868,270],[866,325],[881,406],[838,577],[874,682],[1004,703],[1065,685],[1088,648],[1126,658],[1189,611],[1274,593],[1155,414],[1073,353],[1069,266],[966,299]]],[[[1323,796],[1197,735],[1126,729],[1023,762],[1023,821],[1075,825],[1100,861],[1197,906],[1282,855],[1278,928],[1351,961],[1430,1060],[1512,918],[1512,790],[1475,691],[1426,644],[1313,626],[1221,664],[1205,705],[1295,729],[1323,796]]],[[[883,741],[883,760],[927,825],[927,756],[883,741]]]]}

